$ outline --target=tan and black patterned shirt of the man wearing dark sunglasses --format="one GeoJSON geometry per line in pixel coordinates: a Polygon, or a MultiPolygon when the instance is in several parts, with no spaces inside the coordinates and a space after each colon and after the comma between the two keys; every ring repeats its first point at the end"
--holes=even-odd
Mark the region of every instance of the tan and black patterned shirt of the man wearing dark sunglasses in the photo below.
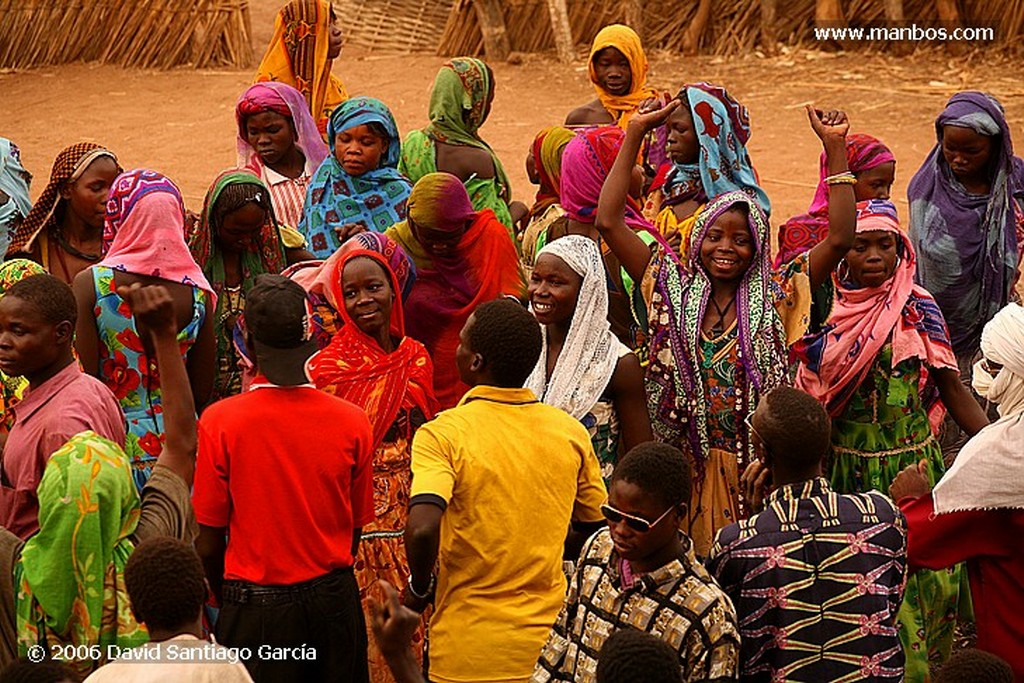
{"type": "Polygon", "coordinates": [[[682,537],[680,557],[623,588],[621,558],[601,529],[587,542],[569,593],[531,683],[597,680],[597,655],[620,629],[650,633],[679,652],[683,680],[733,681],[739,663],[736,612],[682,537]]]}

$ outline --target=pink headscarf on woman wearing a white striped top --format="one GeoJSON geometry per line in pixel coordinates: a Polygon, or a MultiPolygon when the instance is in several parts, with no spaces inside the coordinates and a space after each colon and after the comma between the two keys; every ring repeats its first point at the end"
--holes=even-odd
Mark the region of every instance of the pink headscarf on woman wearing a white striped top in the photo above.
{"type": "Polygon", "coordinates": [[[276,112],[292,120],[295,125],[295,144],[305,155],[306,167],[318,168],[328,156],[328,148],[309,114],[309,105],[301,92],[287,83],[275,81],[250,86],[234,105],[234,120],[239,124],[239,168],[249,169],[262,177],[263,162],[249,144],[245,126],[246,119],[263,112],[276,112]]]}

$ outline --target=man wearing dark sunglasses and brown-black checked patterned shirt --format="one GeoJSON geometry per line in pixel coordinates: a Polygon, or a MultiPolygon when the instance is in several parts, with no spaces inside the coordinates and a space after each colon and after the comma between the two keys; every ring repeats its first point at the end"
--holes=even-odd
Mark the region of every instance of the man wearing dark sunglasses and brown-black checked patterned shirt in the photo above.
{"type": "Polygon", "coordinates": [[[534,683],[593,683],[598,651],[626,629],[668,643],[684,681],[735,679],[736,613],[679,530],[688,500],[690,464],[678,449],[648,441],[618,462],[601,506],[608,526],[584,548],[534,683]]]}

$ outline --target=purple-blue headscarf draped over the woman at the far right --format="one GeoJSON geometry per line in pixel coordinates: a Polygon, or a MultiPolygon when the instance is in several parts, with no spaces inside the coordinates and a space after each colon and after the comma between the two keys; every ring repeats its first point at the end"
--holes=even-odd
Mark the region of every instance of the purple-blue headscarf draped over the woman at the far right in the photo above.
{"type": "Polygon", "coordinates": [[[1017,272],[1015,202],[1024,162],[1014,156],[1002,106],[989,94],[958,92],[935,121],[937,143],[907,187],[918,282],[939,304],[957,355],[974,353],[981,331],[1010,300],[1017,272]],[[945,126],[992,139],[988,195],[967,191],[942,155],[945,126]]]}

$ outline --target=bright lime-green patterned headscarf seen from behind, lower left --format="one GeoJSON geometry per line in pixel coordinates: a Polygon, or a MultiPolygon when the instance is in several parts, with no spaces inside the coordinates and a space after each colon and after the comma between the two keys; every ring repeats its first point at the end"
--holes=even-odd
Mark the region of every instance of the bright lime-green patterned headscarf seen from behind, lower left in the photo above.
{"type": "Polygon", "coordinates": [[[37,495],[39,532],[14,565],[18,654],[38,644],[98,645],[101,664],[109,645],[146,642],[124,584],[140,512],[128,457],[94,432],[76,434],[46,463],[37,495]]]}

